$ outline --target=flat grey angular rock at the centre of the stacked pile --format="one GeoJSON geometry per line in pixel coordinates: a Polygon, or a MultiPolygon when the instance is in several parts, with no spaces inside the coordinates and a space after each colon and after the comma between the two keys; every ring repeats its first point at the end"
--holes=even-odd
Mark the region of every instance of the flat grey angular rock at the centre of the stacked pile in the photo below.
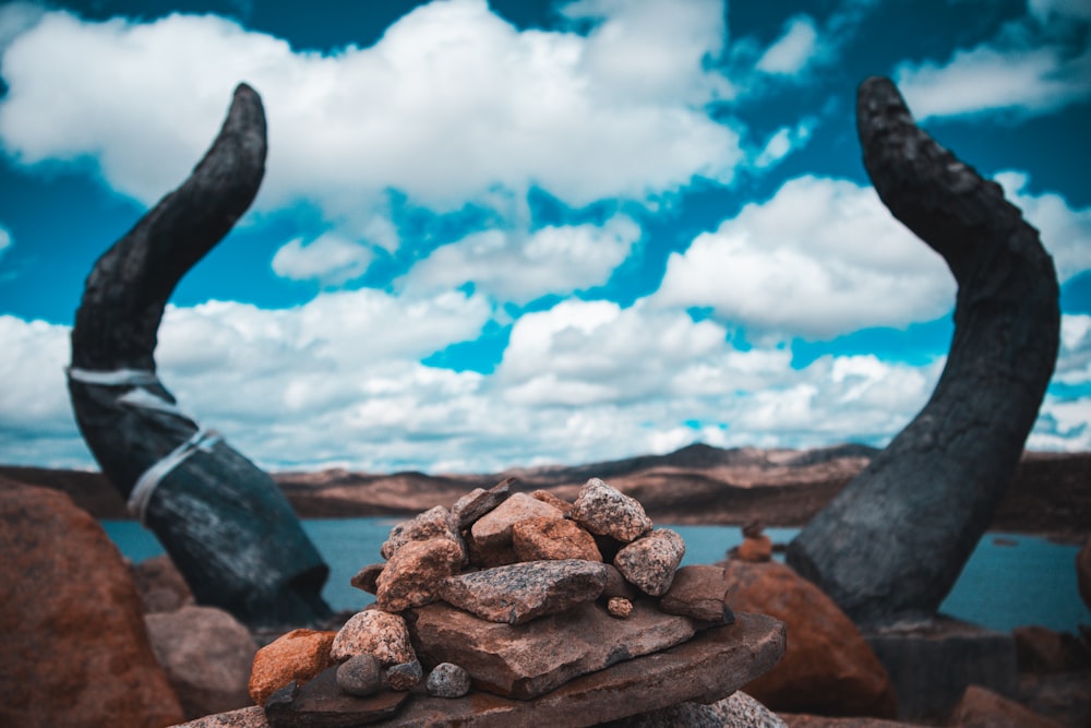
{"type": "Polygon", "coordinates": [[[490,622],[523,624],[594,601],[607,583],[597,561],[528,561],[445,580],[443,600],[490,622]]]}

